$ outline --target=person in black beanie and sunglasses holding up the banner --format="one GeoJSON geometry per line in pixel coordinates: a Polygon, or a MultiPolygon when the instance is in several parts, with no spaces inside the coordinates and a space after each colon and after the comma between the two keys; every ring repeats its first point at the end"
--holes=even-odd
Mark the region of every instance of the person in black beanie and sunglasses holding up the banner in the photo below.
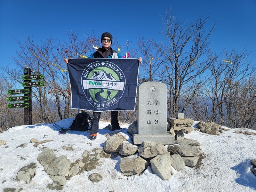
{"type": "MultiPolygon", "coordinates": [[[[110,46],[112,44],[112,35],[108,32],[105,32],[101,35],[101,43],[102,47],[97,49],[96,52],[92,53],[88,58],[123,58],[120,53],[117,53],[114,51],[110,46]]],[[[138,59],[139,63],[142,63],[142,59],[138,59]]],[[[64,59],[64,62],[68,64],[68,59],[64,59]]],[[[111,126],[112,126],[112,131],[115,130],[120,130],[122,129],[119,126],[118,123],[118,111],[111,111],[111,126]]],[[[99,130],[99,121],[100,121],[100,115],[101,112],[98,111],[93,111],[92,114],[92,122],[91,122],[91,134],[90,134],[90,139],[95,140],[98,134],[99,130]]]]}

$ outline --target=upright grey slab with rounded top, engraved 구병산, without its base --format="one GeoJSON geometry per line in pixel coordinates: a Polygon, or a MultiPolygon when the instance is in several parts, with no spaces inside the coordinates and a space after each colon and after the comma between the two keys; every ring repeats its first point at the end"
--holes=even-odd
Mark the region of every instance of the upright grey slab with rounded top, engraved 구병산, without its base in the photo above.
{"type": "Polygon", "coordinates": [[[167,87],[145,82],[138,89],[138,134],[167,133],[167,87]]]}

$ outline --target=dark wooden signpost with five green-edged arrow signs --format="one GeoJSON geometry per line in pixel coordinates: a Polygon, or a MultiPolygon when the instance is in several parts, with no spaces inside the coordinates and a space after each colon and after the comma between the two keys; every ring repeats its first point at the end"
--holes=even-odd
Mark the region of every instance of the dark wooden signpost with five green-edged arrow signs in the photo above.
{"type": "Polygon", "coordinates": [[[44,86],[43,81],[32,81],[32,80],[41,80],[44,79],[44,75],[31,75],[30,68],[24,68],[24,75],[22,76],[24,82],[22,86],[25,89],[13,89],[9,90],[8,94],[10,95],[20,95],[24,94],[24,96],[13,96],[8,97],[8,101],[25,101],[24,103],[9,103],[8,108],[24,108],[24,124],[31,125],[32,124],[32,87],[36,86],[44,86]]]}

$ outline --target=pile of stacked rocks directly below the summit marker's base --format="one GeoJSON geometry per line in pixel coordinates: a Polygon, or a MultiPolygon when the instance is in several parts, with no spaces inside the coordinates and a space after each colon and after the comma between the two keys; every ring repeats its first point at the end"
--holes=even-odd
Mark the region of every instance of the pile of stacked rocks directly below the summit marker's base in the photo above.
{"type": "Polygon", "coordinates": [[[168,180],[172,168],[180,171],[185,166],[195,167],[202,154],[196,140],[180,138],[177,142],[177,145],[164,146],[144,141],[143,146],[138,148],[128,143],[122,133],[117,133],[108,137],[104,150],[126,156],[120,161],[120,170],[124,175],[140,175],[150,166],[154,174],[168,180]]]}

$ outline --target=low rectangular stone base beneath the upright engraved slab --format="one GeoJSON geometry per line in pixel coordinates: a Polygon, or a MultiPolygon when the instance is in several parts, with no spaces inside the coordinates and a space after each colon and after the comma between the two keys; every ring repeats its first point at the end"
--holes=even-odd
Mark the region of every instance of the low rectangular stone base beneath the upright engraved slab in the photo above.
{"type": "Polygon", "coordinates": [[[173,145],[174,136],[172,134],[132,134],[133,144],[141,145],[143,141],[150,140],[154,141],[156,144],[162,143],[163,145],[173,145]]]}

